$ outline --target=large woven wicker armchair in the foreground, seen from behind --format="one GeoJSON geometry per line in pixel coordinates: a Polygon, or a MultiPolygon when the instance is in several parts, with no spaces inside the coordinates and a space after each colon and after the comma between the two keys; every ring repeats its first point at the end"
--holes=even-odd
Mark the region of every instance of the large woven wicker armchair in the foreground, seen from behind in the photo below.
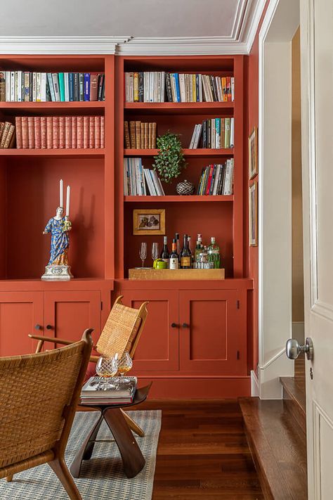
{"type": "Polygon", "coordinates": [[[81,495],[65,447],[91,354],[92,330],[79,342],[40,354],[0,357],[0,478],[48,463],[70,499],[81,495]]]}

